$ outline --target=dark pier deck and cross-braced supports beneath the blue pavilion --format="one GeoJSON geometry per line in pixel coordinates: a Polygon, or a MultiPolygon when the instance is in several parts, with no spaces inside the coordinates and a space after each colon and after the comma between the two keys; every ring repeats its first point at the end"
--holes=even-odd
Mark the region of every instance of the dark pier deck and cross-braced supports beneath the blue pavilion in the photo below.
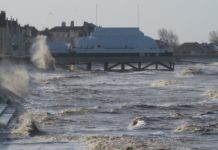
{"type": "Polygon", "coordinates": [[[172,56],[78,56],[55,55],[57,64],[84,64],[91,71],[94,64],[101,64],[104,71],[144,71],[162,70],[174,71],[175,58],[172,56]]]}

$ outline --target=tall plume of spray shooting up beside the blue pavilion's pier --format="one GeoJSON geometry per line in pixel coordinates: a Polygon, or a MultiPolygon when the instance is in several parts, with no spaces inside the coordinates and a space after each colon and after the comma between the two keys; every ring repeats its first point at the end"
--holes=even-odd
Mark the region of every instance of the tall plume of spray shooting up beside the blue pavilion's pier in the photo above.
{"type": "Polygon", "coordinates": [[[37,36],[31,47],[31,61],[43,70],[55,68],[55,59],[49,51],[46,39],[46,36],[37,36]]]}

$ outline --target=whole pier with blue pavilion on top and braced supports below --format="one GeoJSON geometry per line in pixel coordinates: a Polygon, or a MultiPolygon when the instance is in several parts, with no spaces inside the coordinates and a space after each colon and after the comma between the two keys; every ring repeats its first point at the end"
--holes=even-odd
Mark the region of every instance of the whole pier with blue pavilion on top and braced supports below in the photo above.
{"type": "Polygon", "coordinates": [[[96,27],[89,36],[77,39],[74,46],[67,51],[49,45],[57,64],[85,64],[87,70],[100,64],[105,71],[122,72],[174,70],[172,49],[160,47],[139,28],[96,27]]]}

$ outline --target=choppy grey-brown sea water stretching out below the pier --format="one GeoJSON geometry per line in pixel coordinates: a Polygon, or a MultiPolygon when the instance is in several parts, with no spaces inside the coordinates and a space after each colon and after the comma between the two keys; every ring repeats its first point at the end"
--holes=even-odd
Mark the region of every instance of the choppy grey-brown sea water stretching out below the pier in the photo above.
{"type": "Polygon", "coordinates": [[[174,72],[30,75],[25,107],[50,117],[38,124],[46,134],[172,138],[188,148],[218,148],[218,63],[178,64],[174,72]],[[142,124],[131,123],[137,117],[142,124]]]}

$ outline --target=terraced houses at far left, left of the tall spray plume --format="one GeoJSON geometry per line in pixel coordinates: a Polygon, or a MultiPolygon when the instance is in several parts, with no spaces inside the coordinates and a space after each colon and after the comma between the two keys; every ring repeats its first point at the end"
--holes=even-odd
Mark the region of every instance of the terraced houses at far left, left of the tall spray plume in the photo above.
{"type": "Polygon", "coordinates": [[[0,57],[29,55],[33,39],[38,35],[35,27],[21,26],[14,18],[8,19],[6,13],[0,13],[0,57]]]}

